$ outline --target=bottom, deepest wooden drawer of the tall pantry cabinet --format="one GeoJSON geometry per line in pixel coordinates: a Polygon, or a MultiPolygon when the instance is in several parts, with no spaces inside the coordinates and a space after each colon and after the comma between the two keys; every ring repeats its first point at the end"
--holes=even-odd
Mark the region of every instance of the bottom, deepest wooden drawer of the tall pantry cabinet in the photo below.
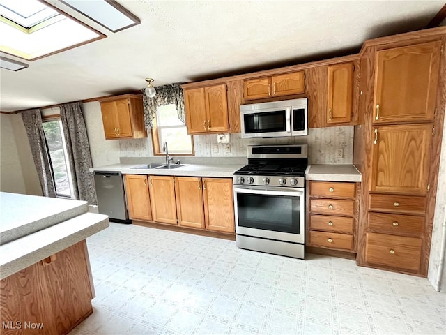
{"type": "Polygon", "coordinates": [[[367,233],[365,261],[398,269],[420,269],[421,239],[387,234],[367,233]]]}

